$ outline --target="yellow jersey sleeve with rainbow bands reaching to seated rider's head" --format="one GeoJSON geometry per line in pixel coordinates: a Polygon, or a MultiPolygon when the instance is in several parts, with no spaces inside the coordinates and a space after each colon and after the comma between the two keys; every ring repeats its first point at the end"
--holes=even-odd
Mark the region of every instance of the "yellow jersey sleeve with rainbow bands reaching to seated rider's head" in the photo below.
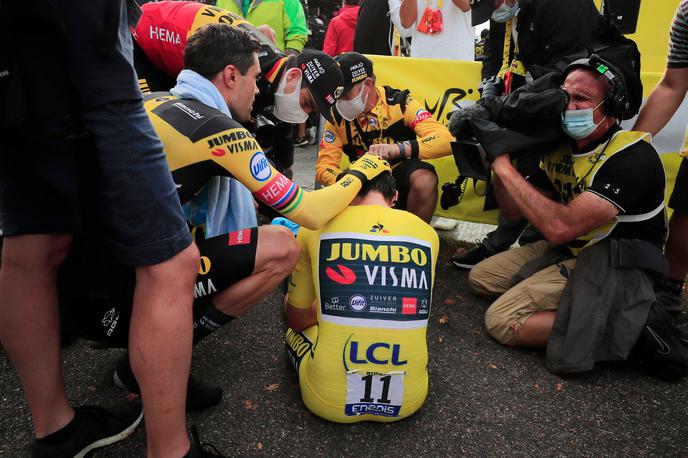
{"type": "Polygon", "coordinates": [[[210,159],[217,163],[254,197],[301,226],[322,227],[349,205],[361,189],[361,179],[349,175],[332,186],[304,192],[270,165],[246,129],[236,127],[236,121],[230,118],[226,118],[226,123],[230,128],[214,130],[195,142],[197,162],[210,159]]]}

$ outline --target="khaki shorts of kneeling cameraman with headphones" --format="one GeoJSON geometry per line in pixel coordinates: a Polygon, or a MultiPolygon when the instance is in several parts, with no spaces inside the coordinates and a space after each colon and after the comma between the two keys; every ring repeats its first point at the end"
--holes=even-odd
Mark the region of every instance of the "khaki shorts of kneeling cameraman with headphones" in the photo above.
{"type": "Polygon", "coordinates": [[[573,269],[575,259],[546,267],[511,287],[511,278],[521,267],[550,247],[549,242],[535,242],[491,256],[471,269],[468,282],[473,292],[498,297],[485,312],[485,326],[500,343],[509,342],[533,313],[559,307],[568,281],[562,270],[573,269]]]}

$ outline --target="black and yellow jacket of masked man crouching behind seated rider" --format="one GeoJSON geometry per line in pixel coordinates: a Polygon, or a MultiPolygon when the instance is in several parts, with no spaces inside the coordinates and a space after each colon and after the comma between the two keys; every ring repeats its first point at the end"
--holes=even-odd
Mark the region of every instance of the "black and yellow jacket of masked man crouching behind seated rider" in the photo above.
{"type": "Polygon", "coordinates": [[[408,141],[411,157],[432,159],[451,154],[452,135],[437,122],[409,91],[376,86],[378,102],[354,121],[334,113],[327,122],[315,163],[316,181],[330,185],[337,179],[342,154],[354,161],[373,144],[408,141]]]}

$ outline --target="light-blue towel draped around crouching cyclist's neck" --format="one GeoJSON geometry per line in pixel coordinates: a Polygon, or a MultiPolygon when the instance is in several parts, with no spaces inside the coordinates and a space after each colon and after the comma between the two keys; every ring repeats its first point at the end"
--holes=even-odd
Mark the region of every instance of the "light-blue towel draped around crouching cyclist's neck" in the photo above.
{"type": "MultiPolygon", "coordinates": [[[[232,117],[227,102],[213,83],[193,70],[182,70],[177,76],[177,85],[170,92],[177,97],[198,100],[232,117]]],[[[202,205],[193,200],[189,204],[202,205]]],[[[212,177],[208,183],[205,236],[214,237],[257,225],[251,191],[234,178],[212,177]]]]}

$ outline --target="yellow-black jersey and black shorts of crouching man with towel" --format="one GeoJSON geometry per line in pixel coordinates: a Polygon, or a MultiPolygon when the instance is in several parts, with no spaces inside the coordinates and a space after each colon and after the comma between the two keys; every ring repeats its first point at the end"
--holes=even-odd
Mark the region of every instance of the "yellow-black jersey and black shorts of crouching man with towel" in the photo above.
{"type": "MultiPolygon", "coordinates": [[[[298,224],[320,227],[356,196],[362,180],[389,168],[378,158],[364,158],[353,174],[328,189],[303,192],[276,172],[253,137],[224,113],[195,100],[153,93],[144,101],[177,184],[182,203],[215,175],[233,176],[263,202],[298,224]],[[374,169],[374,170],[373,170],[374,169]]],[[[126,346],[134,297],[135,273],[118,263],[100,234],[75,241],[58,282],[65,323],[76,335],[126,346]]],[[[201,262],[194,285],[194,325],[205,326],[209,298],[251,275],[258,229],[246,228],[197,241],[201,262]]],[[[206,328],[215,329],[213,323],[206,328]]],[[[219,325],[217,325],[219,327],[219,325]]],[[[195,327],[194,339],[199,330],[195,327]]],[[[204,332],[201,334],[205,335],[204,332]]]]}

